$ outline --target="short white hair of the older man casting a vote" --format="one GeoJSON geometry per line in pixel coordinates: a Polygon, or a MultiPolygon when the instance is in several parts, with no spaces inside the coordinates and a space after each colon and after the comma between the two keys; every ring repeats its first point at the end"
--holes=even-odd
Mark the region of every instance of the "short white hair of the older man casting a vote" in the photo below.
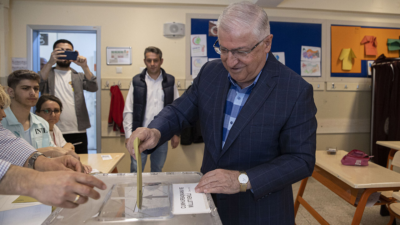
{"type": "Polygon", "coordinates": [[[250,30],[262,40],[270,35],[270,22],[263,8],[249,1],[234,2],[226,6],[217,21],[217,29],[232,32],[250,30]]]}

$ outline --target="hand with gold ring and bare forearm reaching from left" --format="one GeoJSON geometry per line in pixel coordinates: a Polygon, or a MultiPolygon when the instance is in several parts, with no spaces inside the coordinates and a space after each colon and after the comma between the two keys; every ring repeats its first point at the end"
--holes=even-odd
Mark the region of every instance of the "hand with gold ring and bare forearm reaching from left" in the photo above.
{"type": "MultiPolygon", "coordinates": [[[[39,157],[38,157],[39,158],[39,157]]],[[[99,199],[94,187],[107,188],[99,179],[73,171],[39,172],[11,165],[0,181],[3,195],[27,195],[41,203],[64,208],[75,208],[88,198],[99,199]],[[78,197],[76,203],[74,200],[78,197]]]]}

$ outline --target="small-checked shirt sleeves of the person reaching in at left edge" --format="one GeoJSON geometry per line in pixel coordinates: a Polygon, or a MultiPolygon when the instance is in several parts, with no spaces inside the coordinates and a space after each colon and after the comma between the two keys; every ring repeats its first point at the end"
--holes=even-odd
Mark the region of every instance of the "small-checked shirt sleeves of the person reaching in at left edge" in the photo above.
{"type": "Polygon", "coordinates": [[[0,123],[0,179],[6,174],[11,164],[24,166],[28,157],[34,152],[36,149],[32,145],[13,135],[0,123]]]}

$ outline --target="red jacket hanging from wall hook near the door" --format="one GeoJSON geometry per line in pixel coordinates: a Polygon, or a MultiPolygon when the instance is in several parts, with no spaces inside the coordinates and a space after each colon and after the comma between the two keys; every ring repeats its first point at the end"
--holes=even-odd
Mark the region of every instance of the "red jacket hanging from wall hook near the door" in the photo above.
{"type": "Polygon", "coordinates": [[[124,126],[122,126],[122,112],[124,111],[124,97],[122,96],[121,90],[118,85],[110,87],[111,92],[111,103],[110,113],[108,114],[108,126],[114,125],[114,131],[120,131],[121,135],[125,135],[124,126]]]}

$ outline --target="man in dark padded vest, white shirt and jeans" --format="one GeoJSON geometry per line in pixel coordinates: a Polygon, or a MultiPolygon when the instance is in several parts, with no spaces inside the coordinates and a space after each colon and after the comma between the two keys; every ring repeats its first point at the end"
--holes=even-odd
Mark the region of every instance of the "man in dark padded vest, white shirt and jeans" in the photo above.
{"type": "MultiPolygon", "coordinates": [[[[171,104],[179,97],[174,76],[167,74],[161,64],[162,52],[159,48],[148,47],[144,50],[144,64],[142,73],[133,77],[128,96],[126,96],[123,112],[125,143],[138,127],[147,127],[154,116],[167,104],[171,104]]],[[[172,148],[179,143],[178,135],[171,139],[172,148]]],[[[150,154],[151,172],[161,172],[168,151],[168,142],[161,145],[150,154]]],[[[146,165],[147,155],[142,153],[142,171],[146,165]]],[[[136,160],[131,156],[130,172],[137,172],[136,160]]]]}

